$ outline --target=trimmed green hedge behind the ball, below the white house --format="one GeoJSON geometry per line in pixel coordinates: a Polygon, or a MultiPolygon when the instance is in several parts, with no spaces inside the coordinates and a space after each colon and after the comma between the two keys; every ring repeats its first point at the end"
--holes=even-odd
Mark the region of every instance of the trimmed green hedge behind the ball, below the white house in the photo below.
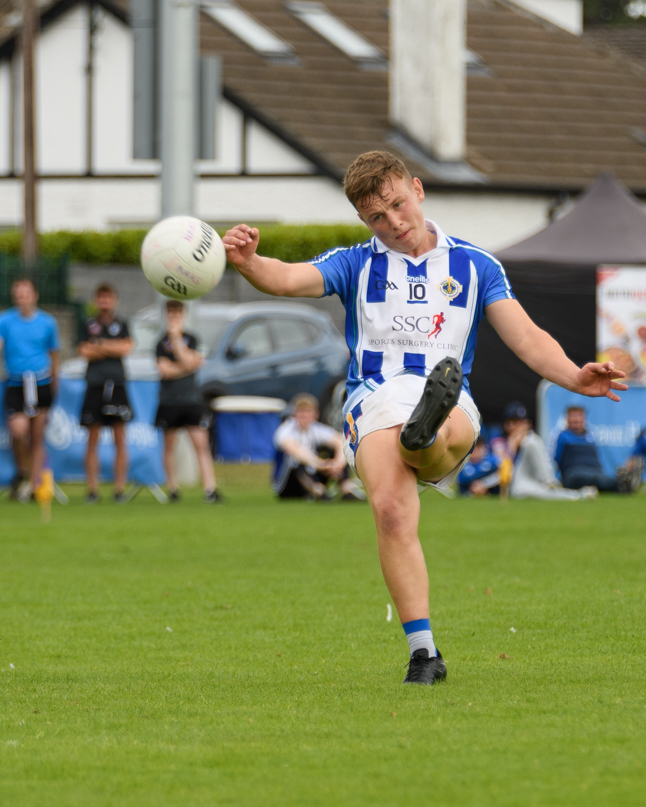
{"type": "MultiPolygon", "coordinates": [[[[41,254],[52,260],[68,257],[75,263],[138,264],[141,242],[146,232],[60,230],[41,233],[39,247],[41,254]]],[[[218,229],[218,232],[224,235],[225,231],[218,229]]],[[[360,224],[277,224],[261,227],[258,251],[261,255],[294,263],[309,260],[333,247],[352,246],[369,237],[369,230],[360,224]]],[[[21,247],[20,231],[0,232],[0,254],[19,255],[21,247]]]]}

